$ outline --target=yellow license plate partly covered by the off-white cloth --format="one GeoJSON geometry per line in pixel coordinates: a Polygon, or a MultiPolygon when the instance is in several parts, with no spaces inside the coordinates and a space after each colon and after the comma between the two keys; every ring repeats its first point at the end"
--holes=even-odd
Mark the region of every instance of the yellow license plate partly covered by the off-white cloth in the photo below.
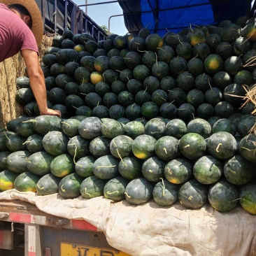
{"type": "Polygon", "coordinates": [[[60,256],[129,256],[120,250],[60,243],[60,256]]]}

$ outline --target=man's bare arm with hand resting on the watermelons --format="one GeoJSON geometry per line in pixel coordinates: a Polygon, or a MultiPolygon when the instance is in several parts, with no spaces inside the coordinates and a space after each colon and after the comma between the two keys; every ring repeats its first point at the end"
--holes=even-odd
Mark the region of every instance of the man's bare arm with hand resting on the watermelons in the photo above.
{"type": "Polygon", "coordinates": [[[24,49],[21,50],[22,57],[27,66],[27,74],[31,90],[34,93],[36,102],[41,115],[58,115],[61,117],[60,111],[55,111],[47,106],[46,87],[43,70],[38,62],[37,52],[34,50],[24,49]]]}

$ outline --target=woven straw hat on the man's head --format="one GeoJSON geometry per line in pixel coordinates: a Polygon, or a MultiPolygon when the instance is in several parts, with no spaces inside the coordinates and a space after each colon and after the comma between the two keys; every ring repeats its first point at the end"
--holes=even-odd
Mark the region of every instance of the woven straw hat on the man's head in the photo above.
{"type": "Polygon", "coordinates": [[[20,4],[28,10],[32,18],[31,31],[36,38],[37,45],[40,45],[43,40],[43,19],[36,2],[34,0],[0,0],[0,3],[4,3],[6,6],[20,4]]]}

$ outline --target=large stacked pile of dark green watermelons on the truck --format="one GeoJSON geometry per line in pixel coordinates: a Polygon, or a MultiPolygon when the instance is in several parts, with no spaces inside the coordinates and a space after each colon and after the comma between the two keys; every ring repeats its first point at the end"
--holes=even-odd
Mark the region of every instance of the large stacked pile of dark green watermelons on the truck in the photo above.
{"type": "Polygon", "coordinates": [[[0,133],[0,190],[104,196],[159,206],[179,201],[256,214],[255,19],[164,36],[66,30],[45,50],[49,108],[17,78],[24,115],[0,133]]]}

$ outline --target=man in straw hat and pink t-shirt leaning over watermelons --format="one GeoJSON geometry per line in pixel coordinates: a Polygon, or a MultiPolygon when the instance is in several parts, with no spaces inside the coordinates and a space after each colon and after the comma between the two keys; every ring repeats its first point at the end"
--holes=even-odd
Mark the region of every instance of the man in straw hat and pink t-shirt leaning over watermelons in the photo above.
{"type": "Polygon", "coordinates": [[[45,78],[38,62],[43,20],[34,0],[0,0],[0,62],[20,52],[41,115],[58,115],[47,106],[45,78]]]}

